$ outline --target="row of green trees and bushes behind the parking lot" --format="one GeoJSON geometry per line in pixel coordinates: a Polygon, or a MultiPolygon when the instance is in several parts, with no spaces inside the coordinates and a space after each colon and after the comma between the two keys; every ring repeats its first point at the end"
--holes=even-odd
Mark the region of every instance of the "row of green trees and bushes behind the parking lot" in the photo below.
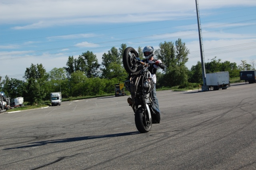
{"type": "MultiPolygon", "coordinates": [[[[24,97],[24,101],[30,104],[40,104],[50,99],[50,93],[61,91],[62,97],[95,96],[113,93],[114,84],[123,83],[128,78],[122,65],[122,55],[126,44],[120,48],[112,47],[102,55],[102,63],[98,63],[97,56],[92,51],[86,51],[78,58],[69,56],[66,66],[53,68],[46,72],[42,64],[31,64],[26,68],[24,81],[9,78],[7,75],[2,80],[0,76],[0,88],[6,96],[11,98],[24,97]]],[[[142,47],[137,49],[142,59],[142,47]]],[[[154,58],[161,59],[167,66],[163,71],[158,71],[157,88],[162,87],[190,87],[202,84],[201,62],[198,61],[191,69],[186,67],[189,49],[179,38],[176,42],[164,42],[159,44],[154,58]]],[[[254,69],[252,65],[242,61],[240,65],[221,62],[214,57],[205,63],[206,73],[217,71],[229,71],[230,77],[238,77],[240,70],[254,69]]]]}

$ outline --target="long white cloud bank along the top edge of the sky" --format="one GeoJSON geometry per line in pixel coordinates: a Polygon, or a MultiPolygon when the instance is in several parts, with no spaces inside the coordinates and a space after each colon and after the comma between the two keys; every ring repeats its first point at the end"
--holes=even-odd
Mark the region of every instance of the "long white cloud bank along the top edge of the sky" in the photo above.
{"type": "MultiPolygon", "coordinates": [[[[254,0],[199,0],[200,9],[256,6],[254,0]]],[[[120,23],[168,20],[195,15],[192,0],[12,0],[0,2],[2,24],[19,23],[14,29],[36,29],[71,23],[120,23]]]]}

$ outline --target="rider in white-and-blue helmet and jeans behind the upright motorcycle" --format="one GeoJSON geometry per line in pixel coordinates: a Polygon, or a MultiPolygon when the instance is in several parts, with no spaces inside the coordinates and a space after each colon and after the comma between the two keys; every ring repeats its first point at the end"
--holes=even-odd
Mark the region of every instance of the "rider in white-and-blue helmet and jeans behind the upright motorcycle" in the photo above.
{"type": "MultiPolygon", "coordinates": [[[[145,59],[142,60],[144,63],[154,63],[150,65],[148,70],[150,71],[152,75],[152,79],[154,81],[154,88],[152,90],[152,98],[154,100],[154,103],[158,107],[158,99],[156,98],[156,71],[160,67],[161,69],[165,69],[166,66],[162,63],[160,59],[154,59],[154,48],[152,46],[146,46],[143,49],[144,57],[145,59]]],[[[160,111],[160,110],[159,110],[160,111]]]]}

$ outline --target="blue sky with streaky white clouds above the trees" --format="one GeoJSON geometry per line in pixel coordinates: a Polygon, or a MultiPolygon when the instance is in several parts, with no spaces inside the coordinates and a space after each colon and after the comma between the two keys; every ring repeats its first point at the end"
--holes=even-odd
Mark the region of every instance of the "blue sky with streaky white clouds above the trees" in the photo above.
{"type": "MultiPolygon", "coordinates": [[[[256,0],[198,0],[204,62],[256,61],[256,0]]],[[[0,0],[0,76],[24,80],[26,68],[66,67],[69,56],[112,47],[159,48],[180,38],[201,61],[195,0],[0,0]]],[[[207,67],[207,65],[206,65],[207,67]]]]}

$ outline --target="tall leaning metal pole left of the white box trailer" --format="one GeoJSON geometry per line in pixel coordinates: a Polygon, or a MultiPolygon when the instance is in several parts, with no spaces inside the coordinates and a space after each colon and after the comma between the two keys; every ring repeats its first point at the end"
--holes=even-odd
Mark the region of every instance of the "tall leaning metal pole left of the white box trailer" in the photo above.
{"type": "Polygon", "coordinates": [[[200,53],[201,53],[202,76],[203,76],[203,83],[204,83],[202,86],[202,91],[208,91],[209,86],[206,85],[206,74],[205,74],[205,67],[204,67],[204,47],[203,47],[201,24],[200,24],[199,6],[198,6],[197,0],[196,0],[196,14],[197,14],[198,34],[199,34],[199,43],[200,43],[200,53]]]}

